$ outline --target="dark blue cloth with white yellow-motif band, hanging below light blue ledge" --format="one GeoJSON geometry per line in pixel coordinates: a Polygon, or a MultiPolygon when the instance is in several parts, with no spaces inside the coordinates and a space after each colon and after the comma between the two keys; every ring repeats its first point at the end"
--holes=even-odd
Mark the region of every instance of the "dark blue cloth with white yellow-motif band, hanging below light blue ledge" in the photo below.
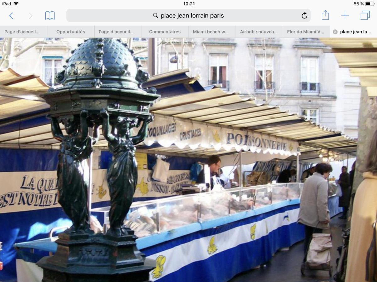
{"type": "MultiPolygon", "coordinates": [[[[290,212],[298,214],[298,208],[299,204],[284,206],[141,249],[147,258],[156,259],[157,267],[151,279],[228,281],[242,271],[269,261],[277,250],[303,240],[303,226],[296,221],[287,222],[290,212]],[[275,224],[277,226],[273,228],[275,224]],[[159,267],[162,258],[165,258],[165,265],[159,267]],[[176,260],[184,261],[185,265],[180,265],[176,260]],[[168,263],[177,265],[166,266],[168,263]]],[[[141,247],[142,243],[138,243],[138,246],[141,247]]]]}

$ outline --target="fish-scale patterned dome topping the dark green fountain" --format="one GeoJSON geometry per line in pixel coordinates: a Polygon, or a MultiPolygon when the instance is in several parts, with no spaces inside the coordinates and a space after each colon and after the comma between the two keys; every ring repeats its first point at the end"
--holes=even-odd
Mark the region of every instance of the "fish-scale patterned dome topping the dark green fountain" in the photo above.
{"type": "Polygon", "coordinates": [[[64,71],[55,80],[64,88],[122,88],[144,90],[149,74],[141,69],[133,50],[120,39],[90,38],[72,50],[64,71]]]}

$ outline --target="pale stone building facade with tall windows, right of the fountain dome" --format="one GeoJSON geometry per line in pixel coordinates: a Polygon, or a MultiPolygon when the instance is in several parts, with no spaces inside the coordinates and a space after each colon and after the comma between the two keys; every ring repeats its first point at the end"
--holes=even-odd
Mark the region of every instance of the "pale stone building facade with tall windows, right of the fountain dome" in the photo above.
{"type": "Polygon", "coordinates": [[[325,49],[317,38],[176,39],[159,47],[158,72],[189,67],[202,85],[255,96],[357,138],[359,80],[325,49]]]}

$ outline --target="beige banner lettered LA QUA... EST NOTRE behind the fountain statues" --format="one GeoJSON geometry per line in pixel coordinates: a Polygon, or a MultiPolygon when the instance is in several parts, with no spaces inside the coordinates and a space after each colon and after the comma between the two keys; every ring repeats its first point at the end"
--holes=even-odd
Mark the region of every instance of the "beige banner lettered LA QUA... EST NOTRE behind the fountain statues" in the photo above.
{"type": "MultiPolygon", "coordinates": [[[[110,200],[107,170],[93,170],[92,203],[110,200]]],[[[134,198],[175,195],[181,184],[191,183],[189,170],[169,170],[167,183],[152,179],[151,170],[139,170],[134,198]]],[[[0,172],[0,213],[60,207],[56,171],[0,172]]],[[[135,199],[137,200],[137,199],[135,199]]]]}

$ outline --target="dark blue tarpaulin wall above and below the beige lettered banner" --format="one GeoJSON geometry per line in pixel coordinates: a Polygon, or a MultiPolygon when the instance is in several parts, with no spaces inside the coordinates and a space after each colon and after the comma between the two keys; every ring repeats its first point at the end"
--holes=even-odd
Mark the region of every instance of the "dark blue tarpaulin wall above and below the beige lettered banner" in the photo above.
{"type": "MultiPolygon", "coordinates": [[[[58,164],[58,153],[58,150],[0,149],[0,159],[2,160],[0,162],[0,173],[25,172],[27,174],[28,171],[54,171],[58,164]]],[[[111,154],[102,152],[100,168],[106,169],[110,161],[111,154]]],[[[194,162],[203,161],[203,159],[168,157],[165,161],[170,163],[170,170],[189,171],[194,162]]],[[[148,155],[149,169],[154,162],[155,156],[148,155]]],[[[0,261],[3,262],[0,280],[16,276],[16,252],[12,247],[14,243],[46,238],[53,227],[70,226],[72,224],[60,207],[3,212],[2,206],[8,205],[9,208],[9,205],[12,204],[9,202],[9,197],[6,196],[8,193],[7,187],[7,183],[1,183],[0,185],[0,222],[2,223],[0,242],[3,243],[3,250],[0,251],[0,261]]],[[[146,199],[135,198],[135,200],[146,199]]],[[[92,208],[102,206],[109,206],[109,202],[92,204],[92,208]]],[[[101,217],[98,219],[102,221],[101,217]]]]}

